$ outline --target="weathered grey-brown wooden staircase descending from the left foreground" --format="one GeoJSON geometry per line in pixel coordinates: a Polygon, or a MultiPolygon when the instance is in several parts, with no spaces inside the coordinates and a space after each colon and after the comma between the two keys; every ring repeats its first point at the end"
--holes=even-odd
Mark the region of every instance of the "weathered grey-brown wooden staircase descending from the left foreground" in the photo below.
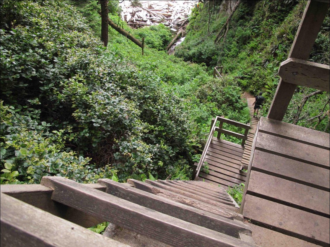
{"type": "Polygon", "coordinates": [[[129,246],[82,227],[103,221],[164,246],[257,246],[237,207],[201,181],[43,177],[41,185],[1,185],[1,246],[129,246]]]}

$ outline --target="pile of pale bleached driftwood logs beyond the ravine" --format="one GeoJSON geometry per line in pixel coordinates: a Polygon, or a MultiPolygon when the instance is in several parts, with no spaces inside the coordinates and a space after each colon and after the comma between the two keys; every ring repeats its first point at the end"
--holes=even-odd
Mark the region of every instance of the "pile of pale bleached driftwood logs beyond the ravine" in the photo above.
{"type": "Polygon", "coordinates": [[[142,7],[132,7],[131,1],[123,1],[121,17],[133,28],[164,24],[179,30],[188,22],[191,9],[198,1],[140,1],[142,7]]]}

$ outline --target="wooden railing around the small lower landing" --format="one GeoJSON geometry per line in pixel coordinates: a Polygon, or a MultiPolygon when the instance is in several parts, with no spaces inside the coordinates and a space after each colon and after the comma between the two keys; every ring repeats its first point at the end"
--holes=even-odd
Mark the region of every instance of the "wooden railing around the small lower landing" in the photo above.
{"type": "Polygon", "coordinates": [[[196,180],[198,178],[199,172],[202,168],[202,165],[204,164],[204,159],[205,159],[207,151],[210,147],[212,137],[213,137],[215,131],[218,132],[217,138],[220,138],[221,133],[223,133],[223,134],[226,134],[226,135],[231,135],[231,136],[234,136],[236,138],[242,139],[242,146],[243,146],[245,144],[245,141],[248,139],[249,129],[251,129],[250,125],[242,124],[240,122],[236,122],[236,121],[233,121],[233,120],[230,120],[230,119],[226,119],[223,116],[221,116],[221,117],[216,116],[215,119],[212,119],[209,138],[208,138],[208,140],[206,142],[206,145],[204,147],[202,156],[201,156],[201,158],[198,162],[198,165],[197,165],[197,168],[196,168],[196,175],[195,175],[194,180],[196,180]],[[216,126],[217,121],[219,121],[219,127],[216,126]],[[230,130],[227,130],[227,129],[223,129],[222,128],[223,123],[234,125],[234,126],[239,127],[239,128],[244,128],[245,129],[244,135],[233,132],[233,131],[230,131],[230,130]]]}

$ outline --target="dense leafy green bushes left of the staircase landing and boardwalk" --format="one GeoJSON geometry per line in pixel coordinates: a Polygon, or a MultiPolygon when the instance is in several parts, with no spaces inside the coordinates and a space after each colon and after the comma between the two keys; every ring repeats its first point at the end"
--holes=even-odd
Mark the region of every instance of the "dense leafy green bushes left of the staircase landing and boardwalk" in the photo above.
{"type": "Polygon", "coordinates": [[[1,1],[2,183],[188,179],[212,116],[248,121],[237,85],[161,50],[164,26],[132,32],[143,57],[115,33],[104,48],[65,2],[1,1]]]}

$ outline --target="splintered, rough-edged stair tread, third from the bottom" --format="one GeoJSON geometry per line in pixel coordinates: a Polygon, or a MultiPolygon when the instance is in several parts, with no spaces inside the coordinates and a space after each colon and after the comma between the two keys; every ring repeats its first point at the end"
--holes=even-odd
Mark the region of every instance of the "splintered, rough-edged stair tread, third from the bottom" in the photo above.
{"type": "Polygon", "coordinates": [[[233,211],[235,209],[233,206],[222,204],[221,206],[217,207],[134,179],[127,179],[127,182],[133,184],[135,188],[182,203],[187,206],[192,206],[201,210],[205,210],[228,219],[237,219],[241,221],[243,220],[243,216],[241,214],[238,214],[233,211]]]}

